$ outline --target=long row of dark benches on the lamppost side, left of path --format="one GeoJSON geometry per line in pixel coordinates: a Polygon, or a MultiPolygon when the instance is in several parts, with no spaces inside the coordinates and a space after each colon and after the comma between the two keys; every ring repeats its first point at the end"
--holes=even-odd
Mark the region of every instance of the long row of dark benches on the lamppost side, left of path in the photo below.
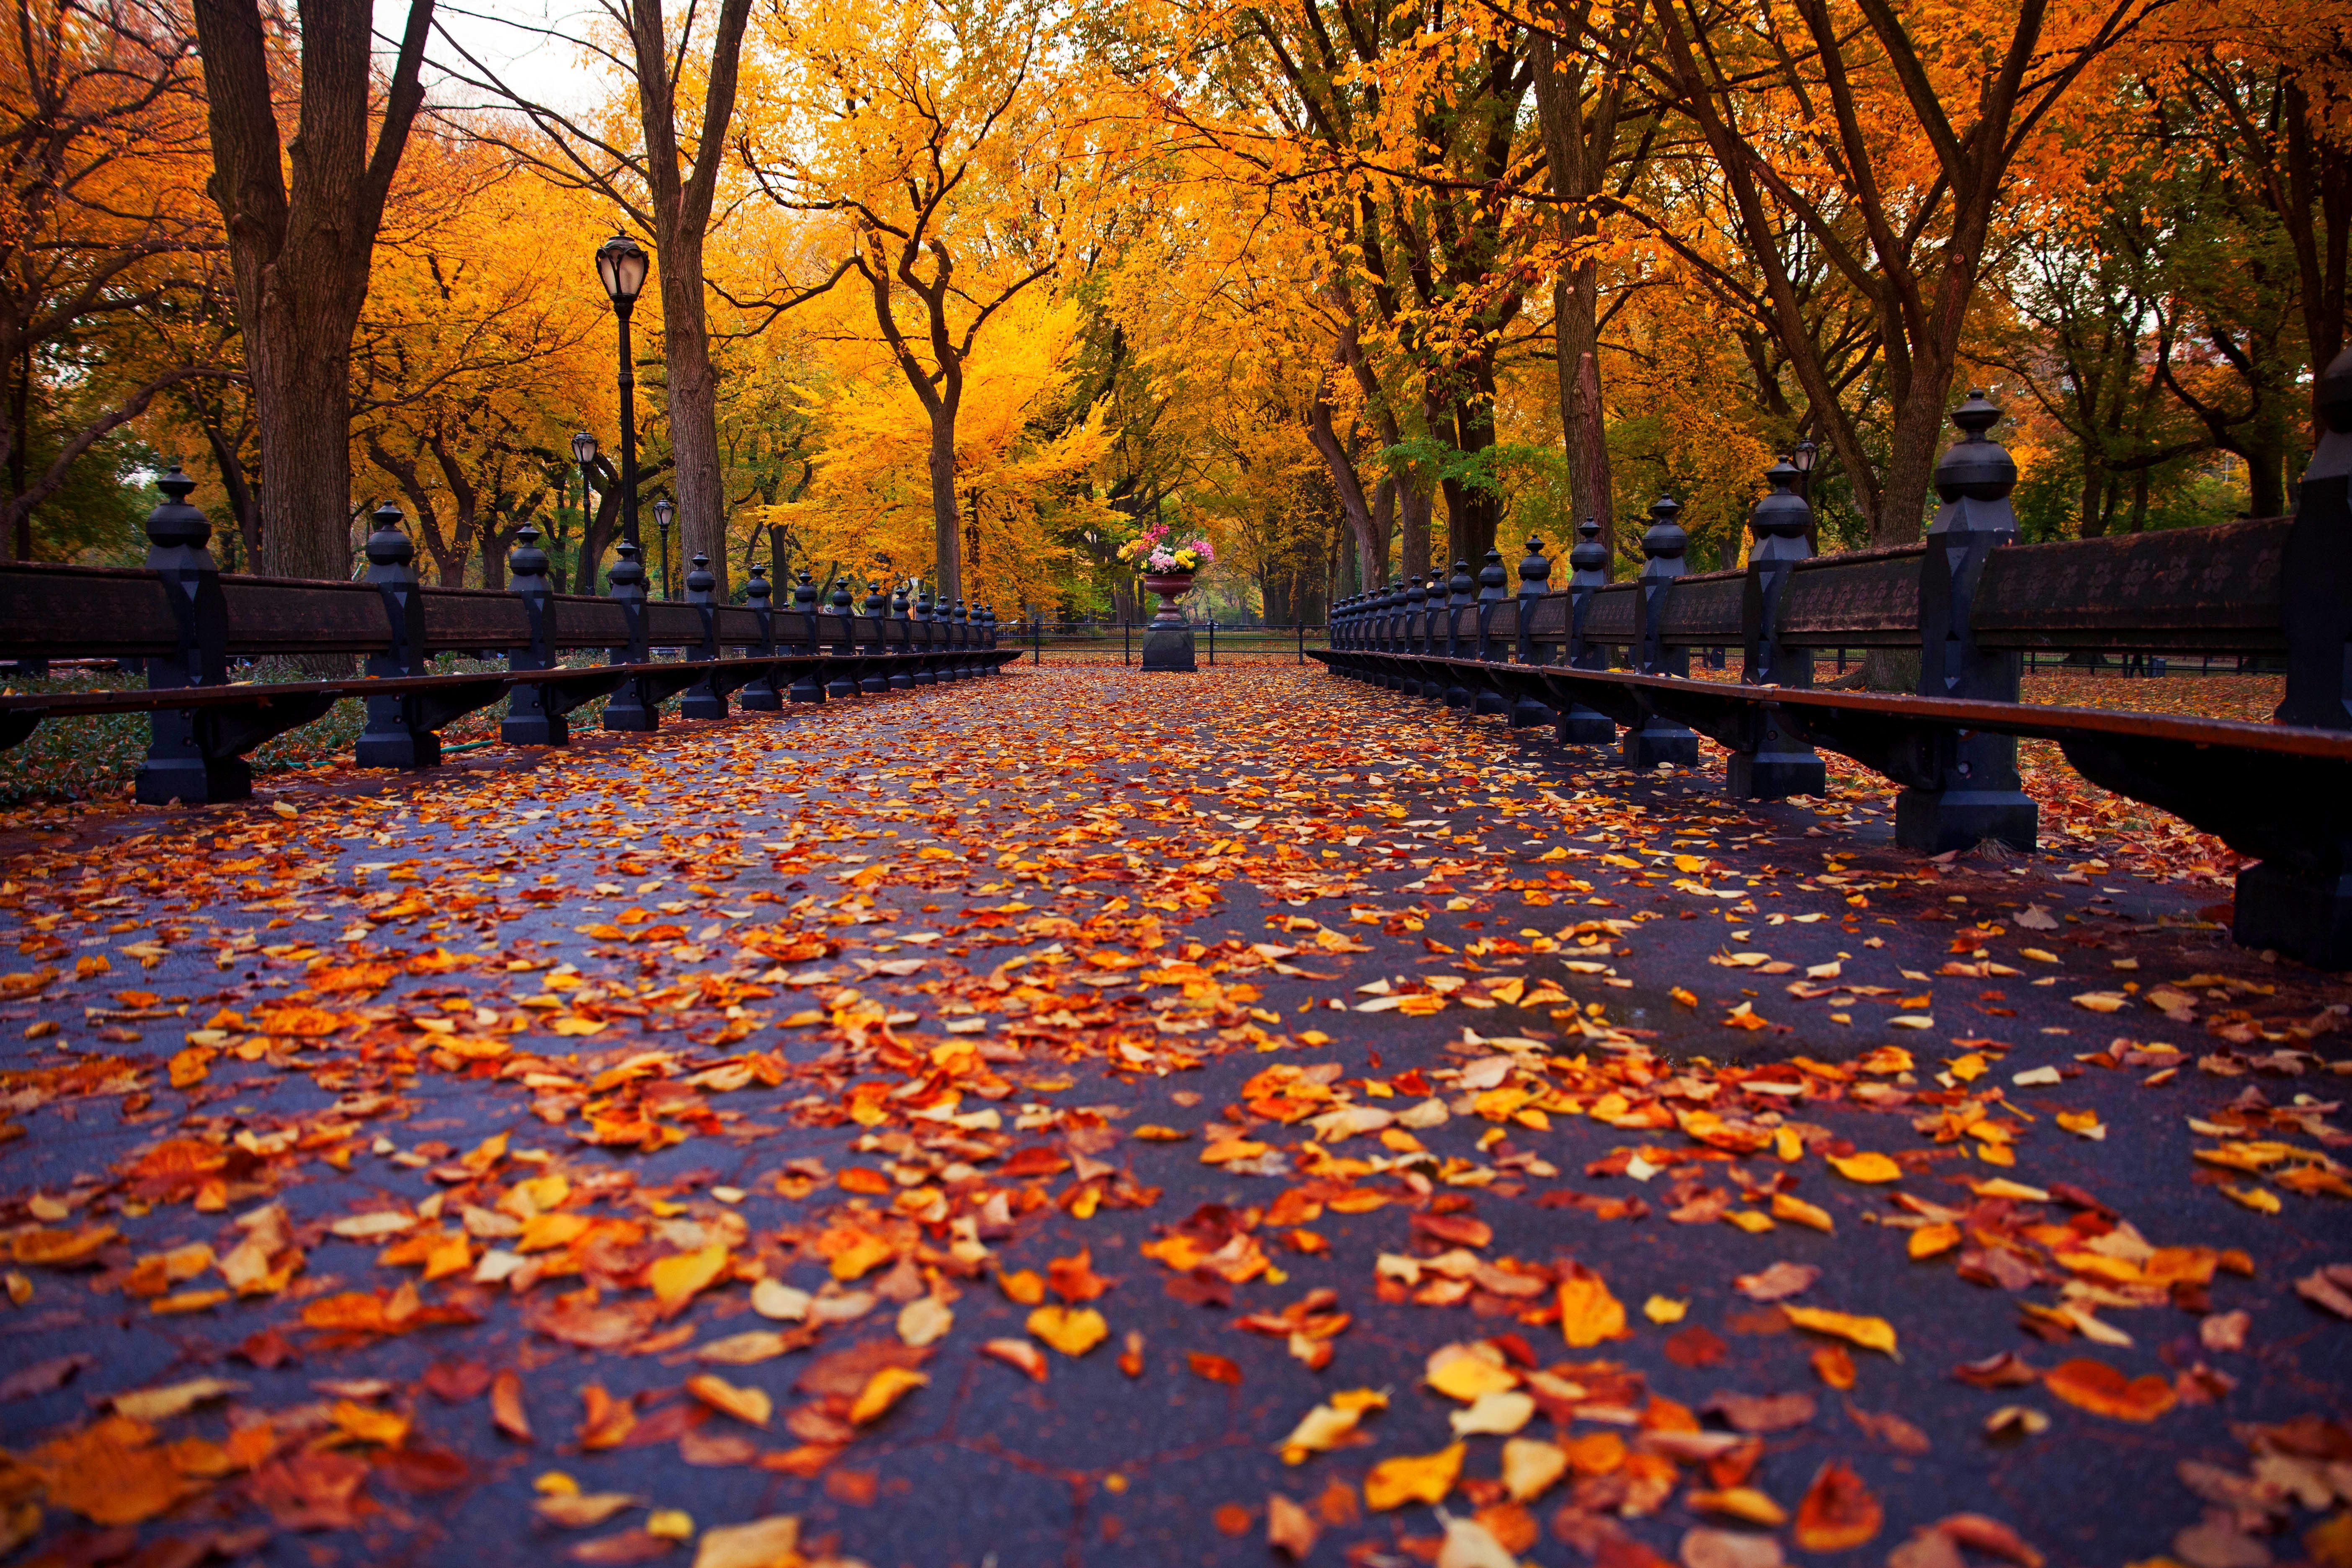
{"type": "Polygon", "coordinates": [[[567,745],[569,715],[607,698],[602,726],[652,731],[680,698],[689,719],[734,708],[776,712],[786,701],[906,691],[995,675],[1021,658],[1000,649],[993,611],[917,602],[873,590],[854,614],[847,583],[830,604],[802,571],[793,604],[776,609],[762,567],[748,604],[720,604],[717,578],[696,555],[684,599],[647,599],[637,545],[619,545],[609,597],[562,595],[548,583],[539,529],[517,531],[510,590],[428,588],[397,508],[374,512],[367,574],[348,583],[238,576],[205,548],[212,524],[188,505],[195,482],[176,465],[158,487],[141,569],[0,564],[0,658],[96,656],[146,665],[143,691],[0,696],[0,750],[42,719],[99,712],[151,715],[151,743],[134,780],[146,804],[207,804],[252,795],[245,755],[365,698],[360,766],[440,764],[440,729],[506,701],[499,738],[567,745]],[[680,658],[656,658],[677,649],[680,658]],[[567,656],[597,654],[595,663],[567,656]],[[270,656],[365,656],[350,679],[238,682],[233,661],[270,656]],[[433,675],[437,654],[506,668],[433,675]]]}

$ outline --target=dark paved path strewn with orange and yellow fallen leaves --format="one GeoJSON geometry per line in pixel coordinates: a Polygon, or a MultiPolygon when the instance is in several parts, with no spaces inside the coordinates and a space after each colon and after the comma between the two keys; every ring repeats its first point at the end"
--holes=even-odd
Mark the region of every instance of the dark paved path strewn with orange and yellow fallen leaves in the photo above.
{"type": "Polygon", "coordinates": [[[1719,778],[1018,670],[24,835],[0,1542],[2352,1561],[2352,987],[1719,778]]]}

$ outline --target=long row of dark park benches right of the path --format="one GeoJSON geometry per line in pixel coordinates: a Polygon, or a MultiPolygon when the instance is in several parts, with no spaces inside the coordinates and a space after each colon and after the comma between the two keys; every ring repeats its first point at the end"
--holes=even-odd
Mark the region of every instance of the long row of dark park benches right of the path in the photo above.
{"type": "Polygon", "coordinates": [[[2103,790],[2260,860],[2237,877],[2239,943],[2352,969],[2352,353],[2319,404],[2326,430],[2293,517],[2020,545],[2018,470],[1987,437],[1999,409],[1971,395],[1915,545],[1811,555],[1811,510],[1783,461],[1764,475],[1743,569],[1684,574],[1679,508],[1661,498],[1632,581],[1609,581],[1588,520],[1564,590],[1538,541],[1517,592],[1489,550],[1477,578],[1456,562],[1334,607],[1315,658],[1548,724],[1562,745],[1618,745],[1635,769],[1689,766],[1708,736],[1731,752],[1740,799],[1820,792],[1818,752],[1839,752],[1903,785],[1896,842],[1929,856],[1985,839],[2034,849],[2016,745],[2056,741],[2103,790]],[[1745,651],[1740,679],[1691,679],[1691,649],[1726,644],[1745,651]],[[1912,649],[1917,691],[1816,689],[1825,646],[1912,649]],[[2286,696],[2272,724],[2023,703],[2027,651],[2284,656],[2286,696]]]}

